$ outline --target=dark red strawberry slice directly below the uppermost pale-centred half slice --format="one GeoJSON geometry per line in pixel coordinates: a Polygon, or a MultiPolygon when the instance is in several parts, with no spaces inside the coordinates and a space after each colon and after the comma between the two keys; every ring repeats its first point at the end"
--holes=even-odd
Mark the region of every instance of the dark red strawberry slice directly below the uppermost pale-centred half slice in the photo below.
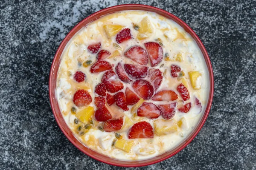
{"type": "Polygon", "coordinates": [[[148,74],[148,67],[142,65],[125,64],[126,73],[134,79],[142,79],[148,74]]]}

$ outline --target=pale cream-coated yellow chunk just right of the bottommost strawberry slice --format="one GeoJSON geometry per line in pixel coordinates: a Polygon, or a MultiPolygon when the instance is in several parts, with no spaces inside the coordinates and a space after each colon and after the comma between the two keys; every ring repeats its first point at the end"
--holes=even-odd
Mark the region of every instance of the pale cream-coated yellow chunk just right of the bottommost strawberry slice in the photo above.
{"type": "Polygon", "coordinates": [[[178,130],[177,122],[174,119],[171,119],[171,120],[157,119],[154,121],[153,125],[154,125],[154,133],[157,136],[174,133],[174,132],[177,132],[178,130]]]}

